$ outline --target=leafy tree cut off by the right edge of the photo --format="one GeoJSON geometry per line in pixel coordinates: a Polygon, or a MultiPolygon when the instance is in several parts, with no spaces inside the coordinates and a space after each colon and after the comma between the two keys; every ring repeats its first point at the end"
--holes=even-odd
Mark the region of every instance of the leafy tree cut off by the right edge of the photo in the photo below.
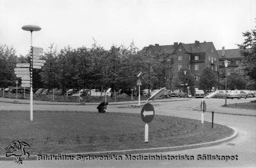
{"type": "Polygon", "coordinates": [[[244,32],[243,36],[246,39],[238,46],[244,55],[244,70],[251,80],[256,81],[256,29],[244,32]]]}

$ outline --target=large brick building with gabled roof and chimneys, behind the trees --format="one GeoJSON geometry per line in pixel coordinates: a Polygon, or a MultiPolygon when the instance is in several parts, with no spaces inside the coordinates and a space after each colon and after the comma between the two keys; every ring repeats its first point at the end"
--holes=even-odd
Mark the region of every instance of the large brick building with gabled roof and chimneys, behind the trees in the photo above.
{"type": "MultiPolygon", "coordinates": [[[[167,80],[172,81],[181,68],[188,68],[195,79],[195,85],[189,86],[192,95],[194,95],[195,89],[198,88],[200,74],[202,74],[205,67],[210,67],[212,70],[219,72],[219,54],[212,42],[200,43],[200,41],[195,41],[191,44],[173,43],[173,45],[164,46],[156,44],[144,47],[141,51],[144,53],[165,53],[172,58],[172,75],[167,80]]],[[[186,90],[184,83],[167,88],[186,90]]]]}

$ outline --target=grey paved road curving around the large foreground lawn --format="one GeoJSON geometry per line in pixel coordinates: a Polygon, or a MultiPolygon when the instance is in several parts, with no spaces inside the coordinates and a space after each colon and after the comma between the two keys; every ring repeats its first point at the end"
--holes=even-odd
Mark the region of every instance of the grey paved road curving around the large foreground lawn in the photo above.
{"type": "MultiPolygon", "coordinates": [[[[200,111],[193,111],[193,106],[200,104],[200,99],[191,99],[191,101],[176,102],[154,102],[157,115],[180,116],[185,118],[194,118],[200,120],[200,111]]],[[[228,100],[228,103],[241,102],[244,100],[228,100]]],[[[245,100],[248,101],[248,100],[245,100]]],[[[207,108],[216,108],[223,112],[232,113],[232,108],[220,108],[223,99],[207,100],[207,108]],[[218,105],[217,105],[218,104],[218,105]]],[[[35,109],[42,110],[77,110],[77,111],[95,111],[95,105],[92,106],[58,106],[58,105],[40,105],[36,104],[35,109]]],[[[29,109],[28,104],[6,104],[0,102],[0,109],[29,109]]],[[[127,104],[108,106],[109,112],[140,113],[140,108],[131,108],[127,104]]],[[[253,110],[243,110],[244,113],[255,113],[253,110]]],[[[211,113],[205,113],[205,120],[211,121],[211,113]]],[[[238,155],[236,161],[221,160],[154,160],[154,161],[24,161],[19,167],[256,167],[256,117],[215,114],[214,121],[223,125],[229,125],[239,131],[239,136],[228,143],[223,143],[207,148],[196,148],[184,151],[172,151],[157,153],[159,155],[238,155]]],[[[149,125],[150,127],[150,125],[149,125]]],[[[152,154],[152,153],[151,153],[152,154]]],[[[12,161],[3,161],[0,163],[4,167],[16,167],[12,161]]],[[[1,166],[0,166],[1,167],[1,166]]]]}

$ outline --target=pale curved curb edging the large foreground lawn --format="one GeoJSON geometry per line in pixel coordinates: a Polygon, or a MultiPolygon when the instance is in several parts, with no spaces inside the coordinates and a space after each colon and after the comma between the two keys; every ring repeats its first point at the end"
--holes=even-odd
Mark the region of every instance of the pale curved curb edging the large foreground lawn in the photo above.
{"type": "MultiPolygon", "coordinates": [[[[225,125],[227,126],[227,125],[225,125]]],[[[229,127],[229,126],[227,126],[229,127]]],[[[136,149],[136,150],[120,150],[120,151],[97,151],[97,152],[88,152],[88,153],[67,153],[67,154],[57,154],[58,155],[65,155],[65,156],[73,156],[76,157],[77,155],[93,155],[93,156],[105,156],[105,155],[129,155],[129,154],[138,154],[138,153],[156,153],[156,152],[166,152],[166,151],[180,151],[180,150],[189,150],[193,148],[203,148],[208,146],[214,146],[217,144],[225,143],[227,141],[231,141],[232,139],[236,138],[238,132],[236,129],[229,127],[230,129],[234,130],[232,136],[226,137],[224,139],[220,139],[217,141],[212,141],[208,143],[199,143],[199,144],[189,144],[184,146],[173,146],[173,147],[161,147],[161,148],[146,148],[146,149],[136,149]]],[[[52,154],[54,155],[54,154],[52,154]]],[[[0,156],[0,160],[16,160],[16,157],[5,157],[0,156]]],[[[26,160],[37,160],[37,155],[31,155],[26,160]]]]}

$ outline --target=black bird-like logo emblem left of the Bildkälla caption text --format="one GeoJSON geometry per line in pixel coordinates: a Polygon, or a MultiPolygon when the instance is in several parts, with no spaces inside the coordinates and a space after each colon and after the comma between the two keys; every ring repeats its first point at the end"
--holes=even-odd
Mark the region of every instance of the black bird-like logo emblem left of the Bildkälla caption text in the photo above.
{"type": "Polygon", "coordinates": [[[5,148],[5,156],[17,157],[15,162],[22,164],[22,158],[26,159],[29,157],[29,153],[25,151],[26,147],[29,147],[28,143],[12,141],[12,143],[7,148],[5,148]]]}

